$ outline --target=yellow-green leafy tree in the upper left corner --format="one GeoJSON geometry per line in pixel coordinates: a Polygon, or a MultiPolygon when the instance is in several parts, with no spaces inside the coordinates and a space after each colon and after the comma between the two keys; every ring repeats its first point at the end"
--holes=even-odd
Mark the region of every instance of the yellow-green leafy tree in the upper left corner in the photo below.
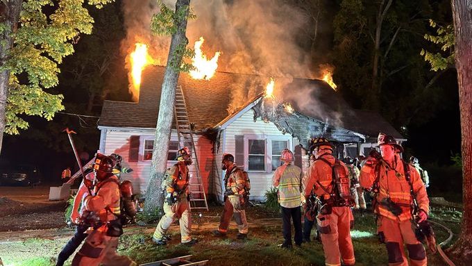
{"type": "MultiPolygon", "coordinates": [[[[89,0],[97,8],[113,0],[89,0]]],[[[3,133],[18,134],[28,123],[18,115],[51,120],[62,110],[58,64],[74,53],[80,33],[92,32],[84,0],[8,0],[0,3],[0,151],[3,133]],[[49,91],[47,91],[49,90],[49,91]]]]}

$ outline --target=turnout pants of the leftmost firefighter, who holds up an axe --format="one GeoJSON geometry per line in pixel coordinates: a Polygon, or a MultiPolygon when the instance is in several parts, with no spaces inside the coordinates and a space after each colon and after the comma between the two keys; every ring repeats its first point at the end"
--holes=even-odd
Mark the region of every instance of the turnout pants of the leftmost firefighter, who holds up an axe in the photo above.
{"type": "Polygon", "coordinates": [[[118,238],[106,235],[106,232],[94,230],[85,239],[85,243],[74,256],[72,266],[137,266],[127,256],[117,254],[118,238]]]}

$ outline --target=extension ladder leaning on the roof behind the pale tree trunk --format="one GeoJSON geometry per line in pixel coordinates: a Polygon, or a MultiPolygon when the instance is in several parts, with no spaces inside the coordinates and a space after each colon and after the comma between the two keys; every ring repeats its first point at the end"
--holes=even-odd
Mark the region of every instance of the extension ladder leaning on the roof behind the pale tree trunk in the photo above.
{"type": "Polygon", "coordinates": [[[176,103],[174,105],[174,119],[176,121],[178,147],[179,149],[187,146],[192,152],[192,160],[194,162],[194,170],[189,172],[192,174],[189,180],[190,189],[190,209],[206,209],[208,210],[208,203],[206,201],[205,188],[203,188],[203,181],[200,175],[199,159],[196,156],[195,142],[193,131],[193,124],[190,123],[187,104],[183,96],[182,86],[176,88],[176,103]]]}

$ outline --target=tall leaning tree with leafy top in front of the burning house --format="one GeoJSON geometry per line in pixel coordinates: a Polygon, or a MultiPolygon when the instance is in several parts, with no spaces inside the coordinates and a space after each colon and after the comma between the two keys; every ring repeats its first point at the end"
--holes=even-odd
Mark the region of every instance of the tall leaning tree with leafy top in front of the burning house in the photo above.
{"type": "Polygon", "coordinates": [[[160,13],[153,17],[151,29],[154,33],[169,34],[172,38],[164,81],[162,81],[158,123],[155,128],[151,178],[146,189],[144,205],[146,214],[152,214],[159,208],[162,209],[164,203],[160,193],[160,184],[167,168],[167,152],[171,138],[178,76],[181,70],[186,70],[182,69],[182,62],[188,52],[186,49],[188,39],[185,36],[187,19],[192,17],[190,0],[177,0],[175,12],[167,8],[164,3],[160,3],[160,6],[160,13]]]}

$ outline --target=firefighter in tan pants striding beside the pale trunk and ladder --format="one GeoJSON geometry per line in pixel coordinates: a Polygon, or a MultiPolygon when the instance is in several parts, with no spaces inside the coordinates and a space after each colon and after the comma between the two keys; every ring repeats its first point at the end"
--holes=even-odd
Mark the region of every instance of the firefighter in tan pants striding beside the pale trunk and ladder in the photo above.
{"type": "Polygon", "coordinates": [[[158,245],[165,245],[170,240],[167,230],[175,219],[180,224],[180,242],[193,245],[197,242],[192,239],[192,213],[189,205],[189,168],[192,158],[188,147],[177,151],[178,163],[167,169],[162,189],[165,191],[164,212],[158,226],[155,227],[153,241],[158,245]]]}

